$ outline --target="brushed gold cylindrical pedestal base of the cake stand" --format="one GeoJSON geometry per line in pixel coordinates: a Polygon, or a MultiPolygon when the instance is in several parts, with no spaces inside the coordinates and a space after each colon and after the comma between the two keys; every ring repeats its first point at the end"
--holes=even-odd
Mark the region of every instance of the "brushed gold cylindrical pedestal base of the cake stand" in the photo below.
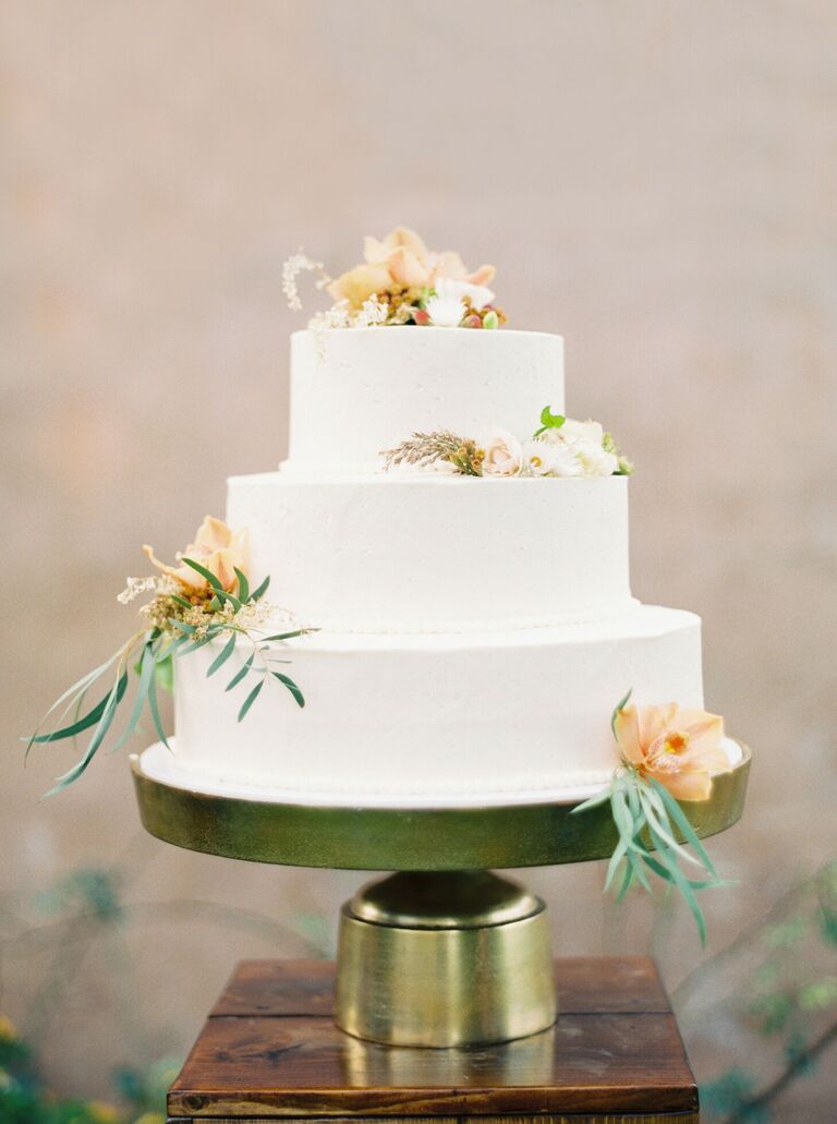
{"type": "Polygon", "coordinates": [[[504,1042],[555,1022],[544,903],[489,871],[403,872],[340,914],[337,1025],[388,1045],[504,1042]]]}

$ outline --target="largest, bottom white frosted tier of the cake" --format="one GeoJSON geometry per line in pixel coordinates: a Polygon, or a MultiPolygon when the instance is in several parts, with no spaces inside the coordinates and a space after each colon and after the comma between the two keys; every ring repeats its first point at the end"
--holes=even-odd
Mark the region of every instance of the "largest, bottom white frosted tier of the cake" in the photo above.
{"type": "Polygon", "coordinates": [[[220,647],[178,660],[172,750],[195,780],[271,797],[544,798],[608,780],[629,689],[640,705],[703,705],[700,618],[654,606],[499,634],[317,633],[274,652],[304,708],[274,680],[242,722],[247,688],[224,688],[249,650],[208,678],[220,647]]]}

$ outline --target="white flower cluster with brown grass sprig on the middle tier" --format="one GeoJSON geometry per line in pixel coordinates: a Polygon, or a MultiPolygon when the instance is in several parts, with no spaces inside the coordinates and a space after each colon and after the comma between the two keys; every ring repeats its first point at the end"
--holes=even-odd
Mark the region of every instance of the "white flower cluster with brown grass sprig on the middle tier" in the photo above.
{"type": "Polygon", "coordinates": [[[598,422],[574,422],[548,406],[526,442],[499,427],[480,437],[437,429],[413,433],[381,455],[385,469],[411,465],[468,477],[613,477],[634,471],[598,422]]]}

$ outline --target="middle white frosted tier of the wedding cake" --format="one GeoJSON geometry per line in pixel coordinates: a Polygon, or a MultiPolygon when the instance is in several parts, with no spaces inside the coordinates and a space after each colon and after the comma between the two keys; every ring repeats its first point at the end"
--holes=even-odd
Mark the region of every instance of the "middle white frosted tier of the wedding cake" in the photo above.
{"type": "Polygon", "coordinates": [[[476,633],[629,613],[625,477],[229,481],[251,577],[330,633],[476,633]]]}

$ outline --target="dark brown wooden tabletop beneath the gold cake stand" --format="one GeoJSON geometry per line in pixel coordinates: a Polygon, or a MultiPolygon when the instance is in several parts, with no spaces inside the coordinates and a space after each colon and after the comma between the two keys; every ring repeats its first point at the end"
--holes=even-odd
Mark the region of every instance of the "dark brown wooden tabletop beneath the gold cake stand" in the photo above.
{"type": "Polygon", "coordinates": [[[334,1026],[331,962],[244,961],[171,1088],[169,1124],[695,1124],[698,1090],[654,963],[572,958],[557,961],[556,976],[561,1014],[551,1030],[502,1045],[416,1050],[334,1026]]]}

